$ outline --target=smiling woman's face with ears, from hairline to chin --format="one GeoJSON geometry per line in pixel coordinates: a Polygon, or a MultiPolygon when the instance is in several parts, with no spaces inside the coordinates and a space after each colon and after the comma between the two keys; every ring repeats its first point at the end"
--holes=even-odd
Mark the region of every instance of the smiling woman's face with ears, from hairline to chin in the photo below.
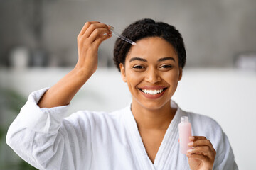
{"type": "Polygon", "coordinates": [[[150,110],[170,105],[182,76],[174,47],[159,37],[138,40],[120,69],[132,94],[132,105],[150,110]]]}

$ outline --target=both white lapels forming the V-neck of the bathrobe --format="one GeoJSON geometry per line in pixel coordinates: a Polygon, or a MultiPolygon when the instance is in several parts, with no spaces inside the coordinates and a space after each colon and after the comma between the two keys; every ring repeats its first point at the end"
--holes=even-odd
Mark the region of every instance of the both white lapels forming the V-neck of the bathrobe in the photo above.
{"type": "MultiPolygon", "coordinates": [[[[139,130],[137,127],[137,123],[134,119],[132,111],[130,107],[125,109],[125,118],[124,124],[127,129],[127,133],[129,134],[129,143],[132,147],[132,152],[136,157],[134,162],[136,162],[139,169],[148,169],[148,170],[156,170],[156,169],[169,169],[171,167],[171,160],[176,160],[177,155],[174,150],[179,147],[178,145],[178,123],[181,118],[181,109],[178,108],[177,104],[174,101],[171,101],[171,107],[177,108],[176,114],[174,115],[174,119],[171,120],[169,128],[166,130],[166,134],[164,135],[164,139],[161,142],[159,150],[156,154],[156,158],[154,160],[154,164],[152,164],[149,159],[144,144],[142,142],[142,137],[139,135],[139,130]]],[[[176,162],[173,164],[176,164],[176,162]]]]}

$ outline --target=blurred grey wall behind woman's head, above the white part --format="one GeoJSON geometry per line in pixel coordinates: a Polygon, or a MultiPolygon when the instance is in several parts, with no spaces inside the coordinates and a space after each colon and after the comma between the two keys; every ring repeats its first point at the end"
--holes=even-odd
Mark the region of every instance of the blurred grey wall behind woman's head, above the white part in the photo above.
{"type": "MultiPolygon", "coordinates": [[[[140,18],[176,26],[186,43],[187,67],[229,67],[239,52],[256,50],[256,1],[0,0],[0,59],[12,47],[48,52],[51,65],[74,65],[76,37],[86,21],[118,32],[140,18]],[[35,37],[35,29],[39,31],[35,37]]],[[[100,65],[112,64],[113,36],[100,47],[100,65]]]]}

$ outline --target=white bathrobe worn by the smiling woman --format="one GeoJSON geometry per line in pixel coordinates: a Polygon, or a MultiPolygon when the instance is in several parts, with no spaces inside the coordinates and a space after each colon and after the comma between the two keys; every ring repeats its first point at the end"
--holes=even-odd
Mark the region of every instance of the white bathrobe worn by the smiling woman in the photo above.
{"type": "Polygon", "coordinates": [[[220,125],[206,116],[182,111],[174,101],[171,106],[177,108],[176,114],[152,164],[130,106],[112,113],[78,111],[67,117],[69,106],[37,106],[46,90],[28,97],[6,136],[7,144],[38,169],[189,169],[178,144],[178,123],[183,115],[192,124],[192,135],[205,136],[212,142],[217,152],[213,169],[238,169],[220,125]]]}

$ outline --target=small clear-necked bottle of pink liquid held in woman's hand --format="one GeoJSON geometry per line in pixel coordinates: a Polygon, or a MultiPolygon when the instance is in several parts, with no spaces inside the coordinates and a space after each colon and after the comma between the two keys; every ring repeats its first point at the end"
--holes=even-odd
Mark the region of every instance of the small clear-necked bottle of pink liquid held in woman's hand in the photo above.
{"type": "Polygon", "coordinates": [[[178,124],[178,132],[179,132],[179,143],[180,150],[182,154],[186,154],[188,149],[188,143],[191,142],[189,137],[191,136],[191,123],[188,122],[187,116],[181,117],[181,123],[178,124]]]}

